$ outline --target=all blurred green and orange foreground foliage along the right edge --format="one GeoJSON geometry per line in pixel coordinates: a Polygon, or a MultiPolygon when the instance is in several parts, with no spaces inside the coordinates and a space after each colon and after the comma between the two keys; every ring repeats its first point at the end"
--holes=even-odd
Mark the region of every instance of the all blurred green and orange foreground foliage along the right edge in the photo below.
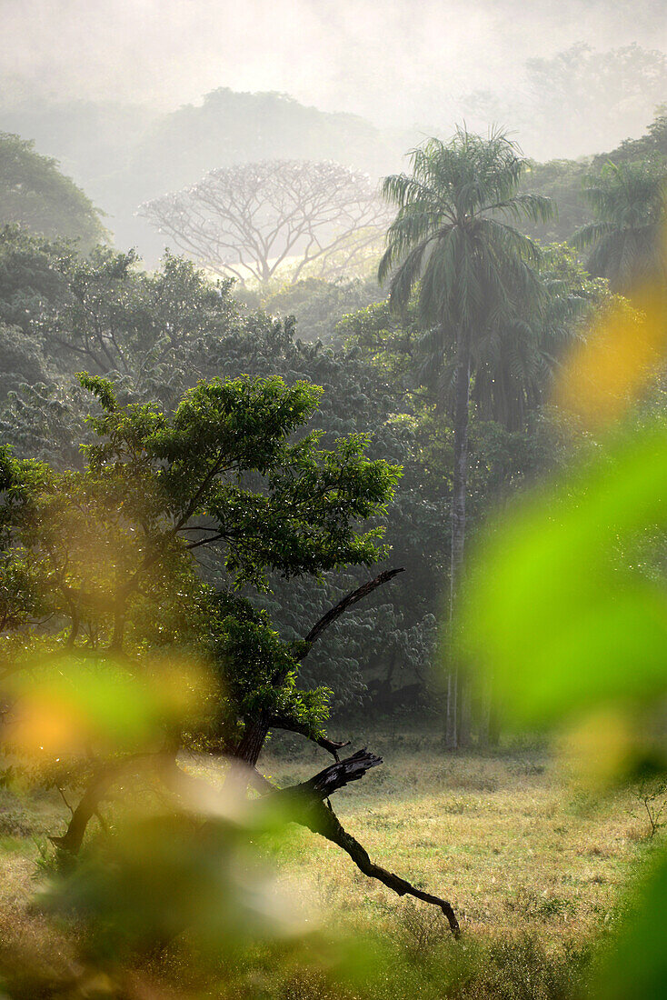
{"type": "MultiPolygon", "coordinates": [[[[667,430],[650,396],[637,405],[667,356],[663,266],[564,366],[557,398],[596,446],[493,524],[460,621],[461,655],[483,668],[505,718],[565,727],[578,770],[602,787],[667,767],[667,430]]],[[[663,850],[634,887],[594,995],[665,995],[664,882],[663,850]]]]}

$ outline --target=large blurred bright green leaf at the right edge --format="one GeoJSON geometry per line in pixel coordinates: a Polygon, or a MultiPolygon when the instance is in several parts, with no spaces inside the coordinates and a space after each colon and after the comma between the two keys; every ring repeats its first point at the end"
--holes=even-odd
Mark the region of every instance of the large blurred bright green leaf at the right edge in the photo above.
{"type": "Polygon", "coordinates": [[[515,722],[664,691],[667,591],[642,575],[633,547],[666,523],[667,429],[653,426],[620,435],[494,526],[468,581],[462,643],[515,722]]]}

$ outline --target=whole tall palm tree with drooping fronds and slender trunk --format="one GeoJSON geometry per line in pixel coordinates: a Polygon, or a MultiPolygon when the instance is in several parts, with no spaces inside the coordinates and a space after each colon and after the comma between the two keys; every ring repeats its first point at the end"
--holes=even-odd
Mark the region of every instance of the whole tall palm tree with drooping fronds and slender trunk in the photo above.
{"type": "MultiPolygon", "coordinates": [[[[468,410],[476,345],[539,296],[539,248],[514,222],[545,221],[548,198],[519,194],[526,161],[501,131],[488,138],[459,128],[449,142],[429,139],[411,153],[412,174],[387,177],[384,197],[398,206],[379,267],[390,304],[401,310],[418,289],[418,309],[454,383],[450,614],[463,564],[468,480],[468,410]]],[[[447,741],[456,746],[457,681],[451,682],[447,741]]]]}

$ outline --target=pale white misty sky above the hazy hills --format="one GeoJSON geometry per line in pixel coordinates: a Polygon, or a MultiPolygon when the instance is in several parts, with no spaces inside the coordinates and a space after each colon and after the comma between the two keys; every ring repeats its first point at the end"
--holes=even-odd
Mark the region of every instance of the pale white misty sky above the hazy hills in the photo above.
{"type": "Polygon", "coordinates": [[[162,109],[278,90],[387,126],[520,82],[577,41],[667,50],[667,0],[0,0],[0,73],[162,109]]]}

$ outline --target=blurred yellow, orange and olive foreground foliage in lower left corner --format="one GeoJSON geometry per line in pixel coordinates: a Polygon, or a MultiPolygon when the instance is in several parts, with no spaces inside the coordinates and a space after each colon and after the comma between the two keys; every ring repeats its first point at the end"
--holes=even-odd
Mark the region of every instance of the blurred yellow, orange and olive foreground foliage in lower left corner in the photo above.
{"type": "Polygon", "coordinates": [[[303,934],[303,918],[254,846],[259,835],[281,834],[278,807],[253,810],[240,783],[216,790],[162,756],[165,739],[215,714],[220,691],[202,664],[173,652],[130,662],[79,650],[14,658],[11,667],[2,685],[3,753],[13,761],[6,783],[16,792],[39,777],[61,787],[77,769],[99,767],[99,756],[91,764],[95,752],[109,761],[109,774],[114,767],[125,774],[134,794],[111,827],[97,813],[101,832],[78,860],[58,855],[42,873],[32,902],[41,946],[68,934],[76,959],[58,970],[57,962],[21,954],[17,942],[18,953],[0,954],[8,995],[128,996],[129,970],[184,933],[200,972],[250,941],[303,934]]]}

